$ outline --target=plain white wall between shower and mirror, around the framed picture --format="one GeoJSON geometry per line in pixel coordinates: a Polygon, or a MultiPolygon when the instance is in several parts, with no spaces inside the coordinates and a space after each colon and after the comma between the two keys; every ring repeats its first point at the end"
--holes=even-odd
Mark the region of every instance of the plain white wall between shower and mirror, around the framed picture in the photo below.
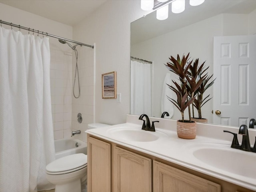
{"type": "Polygon", "coordinates": [[[130,23],[146,14],[139,0],[108,0],[90,17],[73,28],[73,38],[95,43],[95,121],[106,124],[126,122],[130,113],[130,23]],[[102,99],[101,74],[116,71],[116,99],[102,99]]]}

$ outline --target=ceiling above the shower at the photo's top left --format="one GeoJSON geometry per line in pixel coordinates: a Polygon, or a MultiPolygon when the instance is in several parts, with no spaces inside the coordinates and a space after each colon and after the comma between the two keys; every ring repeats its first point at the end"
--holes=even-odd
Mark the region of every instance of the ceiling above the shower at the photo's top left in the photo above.
{"type": "Polygon", "coordinates": [[[74,26],[106,0],[0,0],[0,3],[74,26]]]}

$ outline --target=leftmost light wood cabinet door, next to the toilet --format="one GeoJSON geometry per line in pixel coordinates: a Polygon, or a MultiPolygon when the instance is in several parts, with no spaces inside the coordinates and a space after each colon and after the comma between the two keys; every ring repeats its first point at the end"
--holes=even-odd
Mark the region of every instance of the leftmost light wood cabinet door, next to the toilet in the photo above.
{"type": "Polygon", "coordinates": [[[87,138],[88,192],[111,192],[111,144],[87,138]]]}

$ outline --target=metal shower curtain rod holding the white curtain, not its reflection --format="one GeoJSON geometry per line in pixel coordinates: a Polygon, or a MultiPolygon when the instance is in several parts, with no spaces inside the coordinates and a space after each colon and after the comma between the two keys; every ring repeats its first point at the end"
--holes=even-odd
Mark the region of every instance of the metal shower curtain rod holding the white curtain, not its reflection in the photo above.
{"type": "Polygon", "coordinates": [[[6,21],[0,20],[0,24],[1,24],[1,26],[2,26],[2,24],[6,24],[6,25],[10,25],[11,27],[16,27],[16,28],[19,28],[19,29],[27,30],[28,32],[33,32],[33,34],[35,32],[37,34],[42,34],[42,35],[45,35],[45,36],[49,36],[49,37],[53,37],[53,38],[57,38],[57,39],[62,39],[62,40],[68,41],[68,42],[72,42],[72,43],[76,43],[76,44],[79,44],[79,45],[84,45],[84,46],[87,46],[87,47],[90,47],[90,48],[94,48],[93,45],[88,45],[88,44],[80,43],[80,42],[77,42],[77,41],[73,41],[73,40],[66,39],[66,38],[63,38],[63,37],[59,37],[59,36],[56,36],[56,35],[51,35],[51,34],[43,32],[43,31],[34,30],[34,29],[31,29],[31,28],[27,28],[27,27],[24,27],[24,26],[16,25],[16,24],[9,23],[9,22],[6,22],[6,21]]]}

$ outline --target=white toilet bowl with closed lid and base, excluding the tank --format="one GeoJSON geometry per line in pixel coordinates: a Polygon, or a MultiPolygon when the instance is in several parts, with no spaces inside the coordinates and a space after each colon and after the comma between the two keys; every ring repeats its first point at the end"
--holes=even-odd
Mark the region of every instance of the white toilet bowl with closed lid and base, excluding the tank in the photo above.
{"type": "Polygon", "coordinates": [[[81,192],[81,183],[87,180],[87,155],[72,154],[49,163],[46,178],[55,184],[55,192],[81,192]]]}

